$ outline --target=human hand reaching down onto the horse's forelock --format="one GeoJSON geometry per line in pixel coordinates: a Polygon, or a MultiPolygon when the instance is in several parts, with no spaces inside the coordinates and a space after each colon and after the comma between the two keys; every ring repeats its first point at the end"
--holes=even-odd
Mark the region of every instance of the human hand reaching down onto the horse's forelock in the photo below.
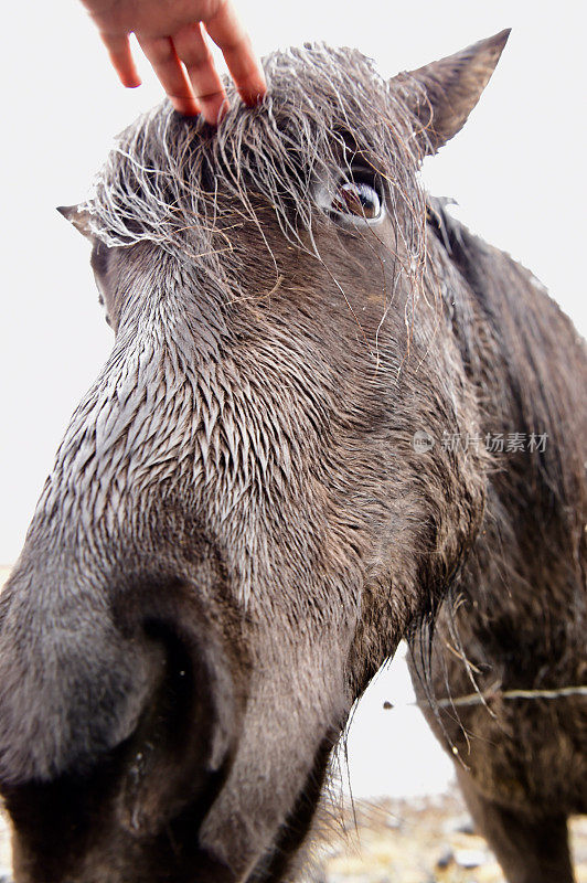
{"type": "Polygon", "coordinates": [[[245,104],[267,91],[250,40],[231,0],[82,0],[100,32],[120,82],[140,86],[130,50],[135,33],[175,110],[202,114],[217,124],[226,110],[226,92],[214,66],[205,34],[222,50],[245,104]]]}

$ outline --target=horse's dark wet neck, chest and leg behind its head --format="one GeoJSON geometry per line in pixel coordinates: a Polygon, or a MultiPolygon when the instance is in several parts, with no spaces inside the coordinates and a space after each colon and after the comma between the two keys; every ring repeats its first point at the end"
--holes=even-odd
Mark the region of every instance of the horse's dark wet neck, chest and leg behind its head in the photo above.
{"type": "MultiPolygon", "coordinates": [[[[435,698],[494,695],[426,716],[458,752],[463,792],[508,879],[570,881],[566,818],[587,810],[585,696],[500,694],[586,683],[585,342],[530,273],[441,206],[435,217],[469,292],[455,307],[483,432],[548,440],[542,454],[495,455],[482,529],[436,624],[435,698]]],[[[414,645],[424,700],[430,672],[421,638],[414,645]]]]}

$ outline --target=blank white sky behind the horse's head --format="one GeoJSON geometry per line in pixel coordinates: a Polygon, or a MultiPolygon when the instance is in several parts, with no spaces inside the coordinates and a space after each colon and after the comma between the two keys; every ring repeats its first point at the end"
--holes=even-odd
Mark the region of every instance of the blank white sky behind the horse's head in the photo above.
{"type": "MultiPolygon", "coordinates": [[[[512,26],[480,105],[455,141],[427,161],[425,179],[431,192],[459,201],[474,230],[542,278],[586,333],[585,3],[236,2],[259,53],[325,40],[373,55],[386,75],[512,26]]],[[[84,196],[111,136],[161,94],[143,62],[140,89],[118,85],[74,0],[13,3],[10,14],[1,61],[3,563],[18,555],[67,419],[111,344],[87,245],[55,206],[84,196]]]]}

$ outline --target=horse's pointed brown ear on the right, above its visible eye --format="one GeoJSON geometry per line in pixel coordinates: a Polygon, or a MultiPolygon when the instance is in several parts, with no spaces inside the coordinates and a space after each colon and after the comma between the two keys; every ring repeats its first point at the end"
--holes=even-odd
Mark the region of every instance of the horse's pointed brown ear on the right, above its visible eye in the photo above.
{"type": "Polygon", "coordinates": [[[392,81],[421,125],[420,152],[436,153],[467,121],[510,35],[510,29],[392,81]],[[416,83],[414,83],[416,81],[416,83]]]}

